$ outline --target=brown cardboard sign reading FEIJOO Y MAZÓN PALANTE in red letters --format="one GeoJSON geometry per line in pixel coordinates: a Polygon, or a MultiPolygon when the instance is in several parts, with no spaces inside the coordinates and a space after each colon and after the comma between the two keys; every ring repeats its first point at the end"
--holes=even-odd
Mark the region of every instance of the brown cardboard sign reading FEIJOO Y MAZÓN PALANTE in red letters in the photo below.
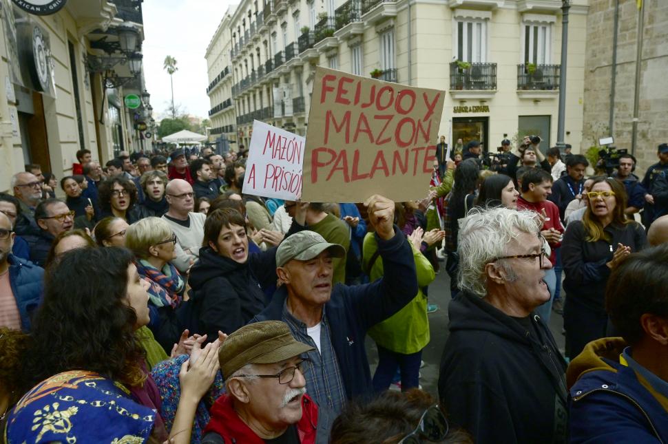
{"type": "Polygon", "coordinates": [[[424,198],[445,92],[317,67],[306,133],[307,202],[424,198]]]}

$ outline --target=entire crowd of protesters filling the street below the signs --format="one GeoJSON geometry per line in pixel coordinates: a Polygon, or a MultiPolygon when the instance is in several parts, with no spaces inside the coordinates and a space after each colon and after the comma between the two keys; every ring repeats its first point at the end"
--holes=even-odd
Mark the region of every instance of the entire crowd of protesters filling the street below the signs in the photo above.
{"type": "Polygon", "coordinates": [[[0,441],[668,439],[668,145],[641,181],[540,144],[441,138],[414,202],[247,195],[208,147],[26,165],[0,193],[0,441]]]}

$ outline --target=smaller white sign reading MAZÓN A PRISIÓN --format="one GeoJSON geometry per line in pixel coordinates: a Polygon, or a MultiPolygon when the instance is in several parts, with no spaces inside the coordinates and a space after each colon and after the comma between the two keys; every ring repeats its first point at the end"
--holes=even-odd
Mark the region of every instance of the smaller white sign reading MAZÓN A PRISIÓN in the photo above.
{"type": "Polygon", "coordinates": [[[253,121],[242,193],[297,200],[302,191],[305,143],[302,136],[253,121]]]}

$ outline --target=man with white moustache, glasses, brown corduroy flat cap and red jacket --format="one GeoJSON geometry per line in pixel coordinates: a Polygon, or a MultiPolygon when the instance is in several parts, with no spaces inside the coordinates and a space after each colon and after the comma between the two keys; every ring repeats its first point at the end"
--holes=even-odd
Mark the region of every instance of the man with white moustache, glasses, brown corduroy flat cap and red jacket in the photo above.
{"type": "Polygon", "coordinates": [[[229,335],[218,351],[227,394],[213,404],[202,443],[327,443],[334,416],[306,394],[302,355],[311,350],[281,321],[229,335]]]}

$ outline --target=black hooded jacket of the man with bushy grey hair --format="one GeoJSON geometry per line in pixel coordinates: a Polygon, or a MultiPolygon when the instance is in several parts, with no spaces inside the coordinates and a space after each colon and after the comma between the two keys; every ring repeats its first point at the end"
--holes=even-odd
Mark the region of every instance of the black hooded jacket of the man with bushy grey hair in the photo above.
{"type": "Polygon", "coordinates": [[[466,293],[448,312],[439,398],[452,423],[476,443],[565,443],[566,363],[543,320],[531,315],[530,333],[466,293]]]}

